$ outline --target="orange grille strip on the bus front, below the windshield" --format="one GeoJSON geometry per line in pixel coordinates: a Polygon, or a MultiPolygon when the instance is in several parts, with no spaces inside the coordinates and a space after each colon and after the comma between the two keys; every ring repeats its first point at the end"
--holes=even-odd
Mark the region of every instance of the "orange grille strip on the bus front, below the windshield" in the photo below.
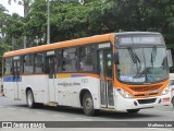
{"type": "Polygon", "coordinates": [[[162,86],[162,84],[152,85],[152,86],[140,86],[140,87],[130,86],[129,88],[133,90],[134,92],[147,92],[147,91],[157,91],[161,86],[162,86]]]}

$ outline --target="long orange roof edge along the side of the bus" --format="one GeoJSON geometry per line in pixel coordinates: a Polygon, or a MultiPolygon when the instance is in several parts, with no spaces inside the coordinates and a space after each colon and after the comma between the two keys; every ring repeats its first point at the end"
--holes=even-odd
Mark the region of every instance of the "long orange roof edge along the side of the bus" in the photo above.
{"type": "Polygon", "coordinates": [[[109,41],[111,40],[111,36],[114,36],[114,34],[96,35],[91,37],[84,37],[84,38],[60,41],[60,43],[54,43],[49,45],[30,47],[26,49],[5,52],[3,57],[5,58],[5,57],[20,56],[25,53],[40,52],[40,51],[53,50],[53,49],[63,48],[63,47],[78,46],[84,44],[109,41]]]}

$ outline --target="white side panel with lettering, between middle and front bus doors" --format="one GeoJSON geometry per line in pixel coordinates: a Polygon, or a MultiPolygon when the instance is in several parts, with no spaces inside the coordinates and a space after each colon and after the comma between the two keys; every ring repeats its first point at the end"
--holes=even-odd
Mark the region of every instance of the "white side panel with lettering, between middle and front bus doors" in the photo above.
{"type": "Polygon", "coordinates": [[[99,108],[99,79],[91,76],[84,76],[80,74],[58,74],[55,80],[57,102],[59,105],[66,105],[73,107],[82,107],[79,95],[83,90],[89,91],[94,98],[95,108],[99,108]]]}

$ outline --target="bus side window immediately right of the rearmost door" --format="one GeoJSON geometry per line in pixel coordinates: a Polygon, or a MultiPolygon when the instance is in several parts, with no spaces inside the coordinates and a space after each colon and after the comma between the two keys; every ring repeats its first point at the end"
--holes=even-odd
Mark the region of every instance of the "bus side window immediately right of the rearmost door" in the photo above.
{"type": "Polygon", "coordinates": [[[34,73],[34,55],[24,56],[24,73],[34,73]]]}

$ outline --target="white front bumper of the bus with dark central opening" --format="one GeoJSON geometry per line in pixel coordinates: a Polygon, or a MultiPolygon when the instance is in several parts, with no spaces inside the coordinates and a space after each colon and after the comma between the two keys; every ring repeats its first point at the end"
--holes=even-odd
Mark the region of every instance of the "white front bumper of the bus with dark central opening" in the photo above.
{"type": "Polygon", "coordinates": [[[120,94],[114,96],[114,104],[116,110],[126,110],[126,109],[144,109],[151,108],[156,106],[165,106],[170,105],[171,97],[170,94],[157,97],[148,98],[124,98],[120,94]]]}

